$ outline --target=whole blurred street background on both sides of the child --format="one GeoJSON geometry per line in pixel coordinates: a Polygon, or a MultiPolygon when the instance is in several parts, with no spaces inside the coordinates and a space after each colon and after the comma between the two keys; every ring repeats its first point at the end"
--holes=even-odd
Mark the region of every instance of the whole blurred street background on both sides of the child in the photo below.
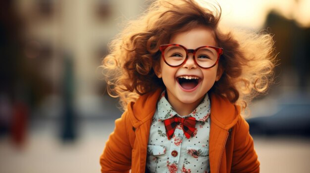
{"type": "MultiPolygon", "coordinates": [[[[310,0],[218,0],[227,27],[274,34],[275,84],[247,119],[262,173],[310,170],[310,0]]],[[[107,43],[145,0],[0,1],[0,173],[100,172],[117,100],[107,43]]]]}

